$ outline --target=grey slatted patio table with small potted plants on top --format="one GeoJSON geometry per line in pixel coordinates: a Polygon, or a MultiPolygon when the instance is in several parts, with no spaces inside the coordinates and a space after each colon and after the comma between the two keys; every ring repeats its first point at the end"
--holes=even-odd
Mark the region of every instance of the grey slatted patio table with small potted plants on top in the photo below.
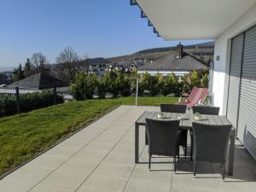
{"type": "MultiPolygon", "coordinates": [[[[139,163],[139,127],[140,125],[145,126],[145,119],[158,119],[157,114],[159,112],[153,111],[145,111],[136,121],[135,123],[135,163],[139,163]]],[[[182,113],[164,113],[164,118],[160,120],[177,120],[178,114],[182,113]]],[[[184,119],[180,119],[180,129],[192,130],[192,122],[195,122],[195,116],[193,113],[185,113],[183,114],[184,119]]],[[[230,121],[225,116],[220,115],[209,115],[202,114],[201,119],[196,122],[207,124],[207,125],[231,125],[230,121]]],[[[230,132],[230,155],[229,155],[229,175],[233,175],[233,167],[234,167],[234,152],[235,152],[235,135],[236,131],[232,128],[230,132]]]]}

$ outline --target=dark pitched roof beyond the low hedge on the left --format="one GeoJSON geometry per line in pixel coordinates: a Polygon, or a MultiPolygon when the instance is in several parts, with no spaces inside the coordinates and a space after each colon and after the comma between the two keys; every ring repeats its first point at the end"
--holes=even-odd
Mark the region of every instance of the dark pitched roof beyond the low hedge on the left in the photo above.
{"type": "Polygon", "coordinates": [[[67,87],[68,83],[57,79],[54,73],[49,71],[43,71],[37,74],[34,74],[26,79],[22,79],[13,84],[9,84],[8,88],[15,89],[15,87],[19,87],[20,89],[28,89],[28,90],[44,90],[53,88],[54,84],[56,87],[67,87]]]}

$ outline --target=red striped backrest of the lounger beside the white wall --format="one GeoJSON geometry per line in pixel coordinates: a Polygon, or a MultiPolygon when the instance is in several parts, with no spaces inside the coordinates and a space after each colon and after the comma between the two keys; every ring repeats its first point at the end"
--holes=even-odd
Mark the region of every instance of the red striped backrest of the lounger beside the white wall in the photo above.
{"type": "Polygon", "coordinates": [[[208,92],[207,88],[194,87],[188,97],[188,100],[189,102],[195,105],[198,104],[200,101],[204,102],[207,97],[207,92],[208,92]]]}

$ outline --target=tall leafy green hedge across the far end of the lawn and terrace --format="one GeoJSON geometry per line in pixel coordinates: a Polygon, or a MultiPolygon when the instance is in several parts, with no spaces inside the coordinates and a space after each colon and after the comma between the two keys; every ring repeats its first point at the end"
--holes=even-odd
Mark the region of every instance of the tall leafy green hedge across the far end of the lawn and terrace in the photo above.
{"type": "MultiPolygon", "coordinates": [[[[186,96],[194,87],[208,86],[208,70],[195,70],[178,77],[174,73],[163,76],[160,73],[139,75],[139,96],[148,93],[150,96],[186,96]]],[[[131,96],[136,93],[137,70],[125,73],[119,70],[106,72],[102,78],[95,73],[78,73],[70,94],[76,100],[91,99],[94,94],[104,98],[106,93],[116,96],[131,96]]]]}

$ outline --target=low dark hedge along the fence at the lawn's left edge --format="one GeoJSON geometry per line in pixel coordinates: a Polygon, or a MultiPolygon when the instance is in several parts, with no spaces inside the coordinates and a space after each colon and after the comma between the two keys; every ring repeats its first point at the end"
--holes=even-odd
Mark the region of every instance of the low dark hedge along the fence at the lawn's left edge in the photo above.
{"type": "MultiPolygon", "coordinates": [[[[52,90],[42,92],[20,94],[20,112],[29,112],[38,108],[45,108],[54,105],[54,94],[52,90]]],[[[56,96],[56,102],[62,103],[63,97],[56,96]]],[[[15,96],[0,95],[0,117],[17,113],[15,96]]]]}

